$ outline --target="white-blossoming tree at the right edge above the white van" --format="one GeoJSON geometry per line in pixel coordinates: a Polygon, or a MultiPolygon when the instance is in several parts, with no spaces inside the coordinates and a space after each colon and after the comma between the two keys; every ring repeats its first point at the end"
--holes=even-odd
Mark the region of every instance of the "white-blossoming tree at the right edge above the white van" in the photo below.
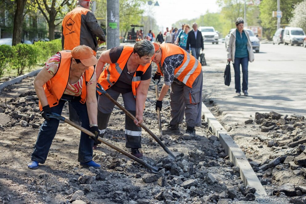
{"type": "Polygon", "coordinates": [[[290,20],[290,26],[301,27],[306,32],[306,0],[296,4],[293,11],[293,17],[290,20]]]}

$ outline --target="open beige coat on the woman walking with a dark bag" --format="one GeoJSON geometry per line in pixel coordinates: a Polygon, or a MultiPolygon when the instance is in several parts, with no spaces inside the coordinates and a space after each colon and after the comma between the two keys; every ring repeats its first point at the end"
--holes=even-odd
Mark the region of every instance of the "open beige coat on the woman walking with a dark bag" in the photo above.
{"type": "MultiPolygon", "coordinates": [[[[249,32],[243,30],[247,36],[247,51],[249,52],[249,62],[254,61],[254,52],[250,40],[249,32]]],[[[235,63],[235,50],[236,50],[236,29],[230,33],[230,40],[227,45],[227,59],[231,59],[235,63]]]]}

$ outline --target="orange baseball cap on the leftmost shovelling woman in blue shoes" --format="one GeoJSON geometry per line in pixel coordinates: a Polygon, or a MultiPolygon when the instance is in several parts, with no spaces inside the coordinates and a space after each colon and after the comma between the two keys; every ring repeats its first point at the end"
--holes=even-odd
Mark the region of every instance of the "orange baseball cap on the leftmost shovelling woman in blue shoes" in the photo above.
{"type": "Polygon", "coordinates": [[[92,48],[86,45],[79,45],[73,48],[71,55],[74,59],[80,59],[81,63],[86,67],[96,65],[98,63],[97,58],[93,55],[92,48]]]}

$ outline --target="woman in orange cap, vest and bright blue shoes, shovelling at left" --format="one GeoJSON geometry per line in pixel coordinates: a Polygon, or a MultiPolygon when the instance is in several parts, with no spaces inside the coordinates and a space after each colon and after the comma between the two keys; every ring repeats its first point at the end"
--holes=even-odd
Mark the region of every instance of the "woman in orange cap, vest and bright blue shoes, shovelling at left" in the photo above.
{"type": "MultiPolygon", "coordinates": [[[[39,99],[39,109],[45,121],[41,125],[31,155],[29,169],[37,169],[44,164],[52,141],[59,126],[59,120],[48,118],[47,114],[61,115],[68,101],[82,122],[82,127],[99,137],[97,123],[96,72],[93,65],[97,59],[91,47],[80,45],[72,51],[59,51],[53,55],[34,80],[34,88],[39,99]],[[65,84],[63,86],[63,84],[65,84]],[[67,84],[67,85],[66,85],[67,84]]],[[[94,140],[81,132],[78,161],[81,166],[101,168],[92,161],[94,140]]]]}

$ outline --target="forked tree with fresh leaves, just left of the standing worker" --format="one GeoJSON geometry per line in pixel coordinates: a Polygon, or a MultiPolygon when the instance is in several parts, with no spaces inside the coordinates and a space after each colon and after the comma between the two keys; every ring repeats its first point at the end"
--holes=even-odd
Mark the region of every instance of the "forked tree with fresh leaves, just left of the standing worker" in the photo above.
{"type": "Polygon", "coordinates": [[[55,27],[63,16],[75,6],[76,0],[29,0],[33,10],[40,10],[49,26],[49,39],[54,40],[55,27]]]}

